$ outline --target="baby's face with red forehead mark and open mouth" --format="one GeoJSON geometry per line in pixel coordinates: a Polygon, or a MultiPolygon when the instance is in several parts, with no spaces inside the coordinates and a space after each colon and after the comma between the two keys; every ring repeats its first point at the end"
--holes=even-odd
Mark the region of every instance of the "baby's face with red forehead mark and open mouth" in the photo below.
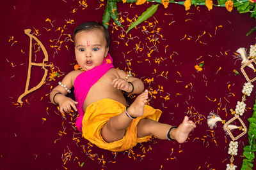
{"type": "Polygon", "coordinates": [[[75,37],[77,63],[86,71],[100,66],[108,55],[107,41],[100,29],[81,31],[75,37]]]}

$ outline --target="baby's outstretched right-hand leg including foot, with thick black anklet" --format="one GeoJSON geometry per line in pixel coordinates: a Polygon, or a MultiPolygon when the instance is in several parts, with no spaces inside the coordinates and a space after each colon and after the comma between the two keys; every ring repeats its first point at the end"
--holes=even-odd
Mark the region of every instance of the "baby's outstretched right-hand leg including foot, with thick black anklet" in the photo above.
{"type": "MultiPolygon", "coordinates": [[[[167,139],[167,132],[172,125],[161,124],[151,119],[142,119],[138,124],[138,138],[154,135],[159,139],[167,139]]],[[[196,125],[185,117],[179,127],[170,131],[170,138],[175,139],[179,143],[184,143],[196,125]]]]}

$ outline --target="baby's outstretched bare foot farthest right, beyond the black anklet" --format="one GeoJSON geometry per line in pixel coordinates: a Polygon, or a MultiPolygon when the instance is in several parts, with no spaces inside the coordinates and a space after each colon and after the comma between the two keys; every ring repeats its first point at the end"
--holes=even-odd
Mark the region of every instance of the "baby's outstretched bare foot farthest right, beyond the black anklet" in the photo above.
{"type": "Polygon", "coordinates": [[[195,123],[188,120],[188,117],[186,116],[177,129],[172,129],[172,131],[170,131],[170,137],[179,143],[184,143],[188,138],[189,132],[191,132],[195,127],[195,123]]]}

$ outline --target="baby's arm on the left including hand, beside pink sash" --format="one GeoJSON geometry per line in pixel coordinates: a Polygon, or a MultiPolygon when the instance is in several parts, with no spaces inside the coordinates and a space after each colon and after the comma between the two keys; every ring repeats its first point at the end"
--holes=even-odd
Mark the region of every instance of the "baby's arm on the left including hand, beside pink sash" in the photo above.
{"type": "MultiPolygon", "coordinates": [[[[76,72],[77,71],[72,71],[68,73],[61,82],[63,85],[67,85],[68,89],[71,89],[74,86],[74,78],[76,78],[76,72]]],[[[54,104],[59,104],[61,113],[64,111],[68,113],[72,108],[77,111],[77,102],[73,101],[70,97],[65,96],[66,94],[67,91],[61,87],[61,85],[58,85],[50,93],[51,102],[54,104]]]]}

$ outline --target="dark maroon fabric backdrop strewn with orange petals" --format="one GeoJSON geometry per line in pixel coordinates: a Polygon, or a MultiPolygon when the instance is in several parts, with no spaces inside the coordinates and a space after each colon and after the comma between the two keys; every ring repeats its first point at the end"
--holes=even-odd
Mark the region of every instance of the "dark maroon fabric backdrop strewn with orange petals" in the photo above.
{"type": "MultiPolygon", "coordinates": [[[[200,6],[198,10],[191,6],[191,10],[185,11],[184,6],[170,4],[166,9],[159,6],[154,17],[138,25],[137,29],[132,29],[124,38],[120,38],[122,29],[116,30],[109,26],[109,53],[113,57],[114,66],[127,69],[130,60],[129,67],[141,80],[154,78],[151,83],[145,81],[146,88],[158,90],[163,87],[162,92],[158,90],[157,94],[150,96],[149,102],[150,106],[163,111],[159,122],[179,125],[185,115],[196,121],[202,118],[189,135],[188,141],[181,145],[175,141],[154,138],[147,143],[138,144],[132,148],[132,152],[120,152],[116,156],[97,146],[90,146],[72,127],[76,114],[74,117],[68,114],[62,117],[47,96],[51,87],[55,87],[63,76],[55,81],[46,81],[40,89],[24,97],[22,107],[15,105],[24,92],[28,72],[29,38],[24,34],[24,29],[31,29],[31,33],[38,29],[36,37],[49,54],[48,64],[52,62],[54,71],[59,68],[67,74],[76,64],[72,42],[64,41],[67,40],[67,34],[72,35],[74,28],[82,22],[100,22],[106,6],[106,2],[101,8],[98,1],[86,3],[88,7],[83,10],[79,1],[1,1],[1,16],[5,16],[1,18],[0,28],[1,169],[81,169],[79,164],[82,162],[83,168],[87,169],[225,169],[229,163],[230,155],[227,150],[230,137],[225,135],[221,123],[211,132],[206,118],[214,111],[221,118],[229,120],[232,118],[230,108],[235,109],[237,101],[241,101],[241,90],[246,80],[240,71],[241,61],[236,62],[233,55],[237,48],[250,48],[255,43],[256,32],[246,36],[255,27],[255,20],[248,13],[239,14],[236,10],[230,13],[225,8],[218,7],[208,11],[205,6],[200,6]],[[74,9],[76,12],[72,13],[74,9]],[[47,18],[52,25],[45,21],[47,18]],[[74,20],[74,24],[68,24],[67,21],[70,20],[74,20]],[[157,31],[160,28],[159,34],[141,31],[142,26],[147,26],[149,22],[156,26],[148,27],[147,30],[157,31]],[[62,35],[58,31],[59,27],[65,27],[62,35]],[[47,31],[48,29],[51,30],[47,31]],[[202,35],[204,31],[205,34],[202,35]],[[148,47],[154,46],[148,38],[153,35],[154,38],[159,38],[159,43],[156,43],[158,52],[154,51],[148,57],[147,53],[153,49],[149,50],[148,47]],[[12,36],[13,39],[9,42],[12,36]],[[198,36],[200,38],[196,41],[198,36]],[[56,50],[51,45],[55,45],[56,41],[52,43],[50,39],[58,38],[63,43],[58,53],[54,53],[56,50]],[[141,52],[136,51],[136,44],[143,47],[141,52]],[[157,63],[159,60],[161,61],[157,63]],[[202,61],[205,62],[203,70],[197,72],[194,66],[202,61]],[[233,69],[239,71],[240,75],[234,74],[233,69]],[[167,79],[161,73],[164,76],[167,73],[167,79]],[[170,99],[165,100],[163,97],[168,95],[170,99]],[[225,107],[227,115],[222,110],[225,107]],[[43,121],[42,118],[46,120],[43,121]],[[60,132],[63,132],[63,127],[65,134],[60,132]],[[67,155],[70,157],[65,160],[67,155]]],[[[123,25],[129,24],[127,16],[132,19],[135,15],[141,15],[151,4],[132,4],[130,8],[130,4],[118,3],[118,12],[122,12],[124,19],[123,25]]],[[[33,61],[36,55],[35,62],[42,62],[42,50],[35,52],[35,42],[33,45],[33,61]]],[[[47,69],[51,73],[51,69],[47,69]]],[[[42,75],[42,69],[33,66],[29,88],[37,85],[42,75]]],[[[246,106],[252,108],[254,99],[255,90],[247,97],[246,106]]],[[[247,118],[251,116],[252,110],[248,109],[241,117],[247,127],[247,118]]],[[[234,164],[240,168],[243,146],[248,144],[248,136],[244,135],[238,141],[238,155],[234,164]]]]}

